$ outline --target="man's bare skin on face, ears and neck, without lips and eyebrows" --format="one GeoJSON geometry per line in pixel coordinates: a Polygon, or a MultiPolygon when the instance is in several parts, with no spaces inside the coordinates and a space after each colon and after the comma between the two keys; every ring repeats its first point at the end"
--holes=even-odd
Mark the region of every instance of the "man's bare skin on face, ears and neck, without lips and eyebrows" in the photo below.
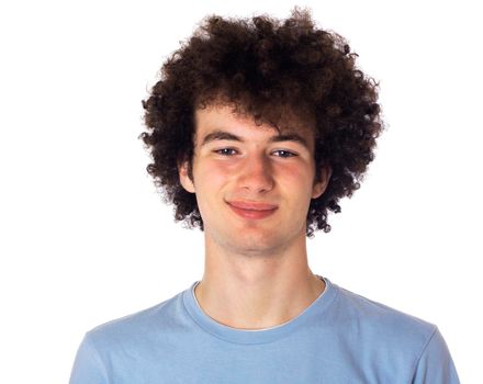
{"type": "Polygon", "coordinates": [[[204,224],[205,268],[195,289],[203,312],[238,329],[270,328],[301,314],[325,290],[307,264],[306,214],[311,199],[322,195],[330,178],[324,168],[315,181],[312,127],[295,131],[295,140],[271,142],[279,132],[257,126],[226,105],[195,111],[193,180],[179,165],[183,188],[195,193],[204,224]],[[239,137],[213,139],[214,131],[239,137]],[[240,217],[229,202],[276,205],[261,219],[240,217]]]}

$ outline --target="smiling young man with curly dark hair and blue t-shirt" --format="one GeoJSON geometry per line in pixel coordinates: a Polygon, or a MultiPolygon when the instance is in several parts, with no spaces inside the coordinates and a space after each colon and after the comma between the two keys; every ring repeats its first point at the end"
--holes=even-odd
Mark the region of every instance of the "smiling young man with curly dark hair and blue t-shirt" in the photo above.
{"type": "Polygon", "coordinates": [[[143,103],[147,170],[204,231],[203,279],[90,330],[71,384],[459,383],[438,328],[314,274],[306,239],[359,188],[377,84],[308,12],[212,16],[143,103]]]}

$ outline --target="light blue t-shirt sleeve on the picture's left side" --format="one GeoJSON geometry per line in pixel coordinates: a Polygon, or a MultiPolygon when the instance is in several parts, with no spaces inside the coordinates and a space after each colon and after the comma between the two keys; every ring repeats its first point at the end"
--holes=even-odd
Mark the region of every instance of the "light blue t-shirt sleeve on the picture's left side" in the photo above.
{"type": "Polygon", "coordinates": [[[104,364],[98,351],[89,339],[89,334],[85,336],[79,349],[77,350],[74,368],[70,373],[69,384],[109,384],[104,364]]]}

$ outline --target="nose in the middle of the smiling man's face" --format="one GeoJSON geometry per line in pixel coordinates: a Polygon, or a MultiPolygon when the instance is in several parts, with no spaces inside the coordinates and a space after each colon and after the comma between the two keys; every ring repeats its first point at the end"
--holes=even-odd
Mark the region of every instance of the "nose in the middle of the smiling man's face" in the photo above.
{"type": "Polygon", "coordinates": [[[273,189],[273,172],[265,154],[251,154],[243,161],[238,185],[250,192],[263,193],[273,189]]]}

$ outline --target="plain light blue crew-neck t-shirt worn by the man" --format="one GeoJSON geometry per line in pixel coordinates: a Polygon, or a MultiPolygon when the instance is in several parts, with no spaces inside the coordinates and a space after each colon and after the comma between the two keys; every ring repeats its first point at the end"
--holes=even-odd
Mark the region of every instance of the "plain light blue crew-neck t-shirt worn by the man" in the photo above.
{"type": "Polygon", "coordinates": [[[190,289],[88,331],[70,384],[457,384],[437,326],[327,278],[299,316],[244,330],[207,316],[190,289]]]}

